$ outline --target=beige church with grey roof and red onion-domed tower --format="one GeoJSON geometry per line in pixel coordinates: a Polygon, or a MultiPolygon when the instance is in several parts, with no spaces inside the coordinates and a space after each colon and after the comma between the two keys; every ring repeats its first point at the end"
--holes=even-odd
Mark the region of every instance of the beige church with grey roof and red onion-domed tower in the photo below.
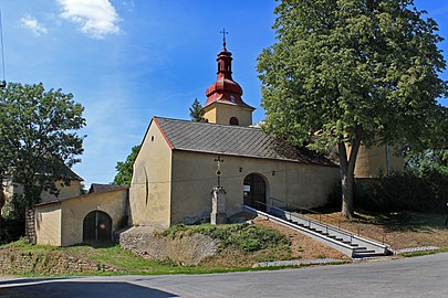
{"type": "Polygon", "coordinates": [[[324,205],[338,180],[329,159],[298,149],[252,125],[253,107],[232,78],[232,54],[218,53],[217,78],[206,91],[208,123],[154,117],[134,163],[129,223],[166,228],[206,221],[211,189],[226,190],[228,216],[250,205],[324,205]]]}

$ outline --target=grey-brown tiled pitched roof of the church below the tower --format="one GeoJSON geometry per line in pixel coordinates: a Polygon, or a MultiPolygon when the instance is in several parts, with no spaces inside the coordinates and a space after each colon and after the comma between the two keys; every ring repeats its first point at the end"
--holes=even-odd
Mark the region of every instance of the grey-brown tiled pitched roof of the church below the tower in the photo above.
{"type": "Polygon", "coordinates": [[[154,120],[175,150],[336,166],[323,156],[295,148],[260,128],[160,117],[154,117],[154,120]]]}

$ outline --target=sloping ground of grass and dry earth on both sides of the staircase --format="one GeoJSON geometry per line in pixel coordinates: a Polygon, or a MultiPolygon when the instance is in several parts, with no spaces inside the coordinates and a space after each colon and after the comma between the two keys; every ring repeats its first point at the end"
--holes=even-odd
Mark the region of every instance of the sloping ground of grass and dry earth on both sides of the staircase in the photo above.
{"type": "MultiPolygon", "coordinates": [[[[305,214],[319,220],[319,216],[305,214]]],[[[416,212],[367,213],[356,212],[352,221],[342,217],[338,212],[329,212],[322,216],[323,222],[340,225],[355,234],[360,233],[372,240],[384,242],[394,249],[439,246],[448,252],[448,228],[444,225],[441,214],[426,214],[416,212]]],[[[45,245],[30,245],[21,240],[0,246],[0,273],[20,276],[70,276],[70,275],[160,275],[160,274],[205,274],[240,270],[258,270],[252,265],[264,260],[279,259],[310,259],[337,258],[341,263],[346,256],[295,231],[277,225],[261,217],[254,219],[253,225],[196,225],[174,226],[163,236],[175,240],[194,233],[201,233],[220,241],[218,253],[196,266],[185,266],[164,258],[149,260],[118,245],[103,245],[92,247],[76,245],[71,247],[54,247],[45,245]],[[13,255],[13,256],[12,256],[13,255]],[[61,258],[75,258],[93,264],[93,270],[65,269],[59,263],[61,258]],[[2,270],[1,262],[10,259],[12,270],[2,270]],[[23,269],[23,262],[31,263],[31,267],[23,269]],[[17,264],[17,265],[15,265],[17,264]],[[58,267],[59,266],[59,267],[58,267]],[[54,267],[60,268],[54,273],[54,267]]],[[[428,254],[410,253],[404,256],[428,254]]],[[[91,266],[92,268],[92,266],[91,266]]],[[[269,269],[278,269],[270,267],[269,269]]]]}

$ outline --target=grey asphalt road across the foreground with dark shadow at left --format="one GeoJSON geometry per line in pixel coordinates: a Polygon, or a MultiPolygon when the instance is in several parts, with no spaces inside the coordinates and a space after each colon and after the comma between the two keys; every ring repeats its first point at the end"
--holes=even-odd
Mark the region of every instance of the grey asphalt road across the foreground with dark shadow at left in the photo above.
{"type": "Polygon", "coordinates": [[[1,278],[10,297],[448,297],[448,253],[211,275],[1,278]]]}

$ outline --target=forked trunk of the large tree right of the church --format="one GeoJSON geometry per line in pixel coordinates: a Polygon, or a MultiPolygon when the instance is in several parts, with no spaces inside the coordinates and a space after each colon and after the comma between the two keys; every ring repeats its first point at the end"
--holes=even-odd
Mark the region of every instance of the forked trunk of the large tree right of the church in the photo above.
{"type": "Polygon", "coordinates": [[[347,158],[347,150],[345,142],[338,142],[338,157],[340,157],[340,175],[341,175],[341,187],[342,187],[342,216],[346,219],[353,219],[353,187],[354,187],[354,172],[357,151],[360,149],[360,138],[351,146],[350,157],[347,158]]]}

